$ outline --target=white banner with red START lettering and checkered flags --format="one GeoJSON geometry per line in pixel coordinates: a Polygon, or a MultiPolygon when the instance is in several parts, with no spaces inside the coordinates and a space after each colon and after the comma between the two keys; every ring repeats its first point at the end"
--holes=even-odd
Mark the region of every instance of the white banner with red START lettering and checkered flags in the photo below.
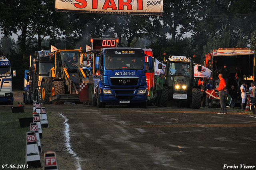
{"type": "Polygon", "coordinates": [[[100,14],[162,15],[162,0],[56,0],[56,11],[100,14]]]}

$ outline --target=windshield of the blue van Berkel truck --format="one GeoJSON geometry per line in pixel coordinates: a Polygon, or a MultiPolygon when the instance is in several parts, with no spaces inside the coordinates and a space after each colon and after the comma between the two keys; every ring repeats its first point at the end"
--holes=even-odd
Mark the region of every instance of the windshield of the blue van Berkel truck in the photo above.
{"type": "Polygon", "coordinates": [[[106,70],[143,70],[144,56],[105,56],[106,70]]]}

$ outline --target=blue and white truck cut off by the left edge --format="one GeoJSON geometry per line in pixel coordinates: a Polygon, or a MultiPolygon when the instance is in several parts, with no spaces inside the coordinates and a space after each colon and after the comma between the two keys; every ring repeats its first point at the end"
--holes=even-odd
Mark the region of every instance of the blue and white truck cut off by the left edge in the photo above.
{"type": "Polygon", "coordinates": [[[13,104],[11,64],[4,56],[0,57],[0,104],[13,104]]]}

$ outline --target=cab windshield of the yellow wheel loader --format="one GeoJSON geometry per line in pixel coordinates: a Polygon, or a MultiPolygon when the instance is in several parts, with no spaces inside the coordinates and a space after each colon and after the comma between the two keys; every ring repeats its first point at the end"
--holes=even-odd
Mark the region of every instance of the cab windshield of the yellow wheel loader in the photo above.
{"type": "Polygon", "coordinates": [[[78,51],[61,51],[62,63],[66,68],[76,70],[78,66],[78,51]]]}

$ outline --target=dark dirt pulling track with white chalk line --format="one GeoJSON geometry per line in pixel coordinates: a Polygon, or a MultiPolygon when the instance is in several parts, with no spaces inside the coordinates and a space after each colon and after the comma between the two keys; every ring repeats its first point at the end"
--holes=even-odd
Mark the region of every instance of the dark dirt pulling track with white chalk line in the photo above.
{"type": "MultiPolygon", "coordinates": [[[[255,166],[255,116],[152,106],[45,107],[60,117],[56,123],[63,128],[44,139],[42,147],[56,151],[62,170],[218,170],[225,164],[255,166]]],[[[30,110],[32,106],[25,108],[30,110]]]]}

